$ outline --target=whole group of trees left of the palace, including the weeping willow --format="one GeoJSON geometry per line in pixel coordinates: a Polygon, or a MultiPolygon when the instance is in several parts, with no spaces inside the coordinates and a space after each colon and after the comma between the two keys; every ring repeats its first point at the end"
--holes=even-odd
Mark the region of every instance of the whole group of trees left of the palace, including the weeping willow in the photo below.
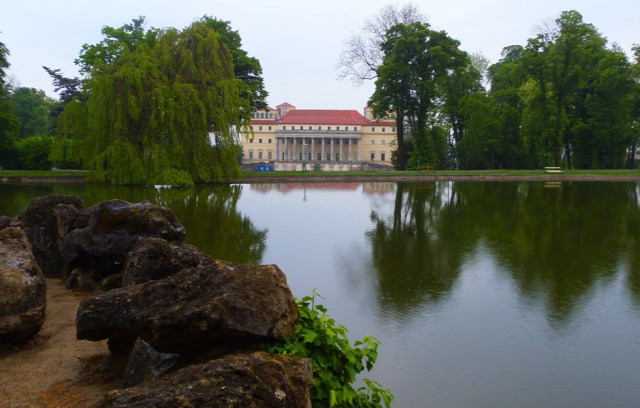
{"type": "Polygon", "coordinates": [[[44,167],[78,163],[98,181],[193,184],[238,175],[236,131],[266,106],[259,61],[225,21],[205,16],[183,30],[144,23],[104,27],[103,40],[85,44],[75,60],[81,78],[43,67],[59,101],[5,86],[8,50],[0,44],[3,166],[21,167],[12,157],[26,157],[23,140],[37,139],[51,160],[44,167]]]}

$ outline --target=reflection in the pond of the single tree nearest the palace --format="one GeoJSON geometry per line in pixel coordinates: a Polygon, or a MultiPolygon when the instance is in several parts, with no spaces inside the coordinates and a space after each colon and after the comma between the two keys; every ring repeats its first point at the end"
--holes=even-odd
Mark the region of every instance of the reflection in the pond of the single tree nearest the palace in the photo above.
{"type": "Polygon", "coordinates": [[[367,232],[382,302],[396,314],[449,294],[475,238],[450,223],[462,209],[449,183],[398,183],[393,214],[367,232]]]}

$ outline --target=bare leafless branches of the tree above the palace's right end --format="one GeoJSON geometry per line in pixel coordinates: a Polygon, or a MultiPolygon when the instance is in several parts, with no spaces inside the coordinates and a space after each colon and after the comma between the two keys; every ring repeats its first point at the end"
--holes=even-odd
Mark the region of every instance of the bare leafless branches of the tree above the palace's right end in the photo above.
{"type": "Polygon", "coordinates": [[[391,4],[384,6],[378,14],[365,20],[360,33],[345,40],[337,64],[338,78],[349,78],[356,85],[375,79],[384,59],[380,44],[384,42],[387,30],[396,24],[408,25],[417,21],[427,24],[427,20],[428,16],[412,3],[401,8],[391,4]]]}

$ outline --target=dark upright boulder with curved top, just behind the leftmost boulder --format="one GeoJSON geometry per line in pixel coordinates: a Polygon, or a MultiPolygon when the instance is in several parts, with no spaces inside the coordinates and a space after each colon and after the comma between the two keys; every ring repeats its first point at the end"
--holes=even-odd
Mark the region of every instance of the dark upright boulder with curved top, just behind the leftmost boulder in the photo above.
{"type": "Polygon", "coordinates": [[[37,197],[29,201],[18,219],[27,232],[29,243],[44,276],[61,277],[63,270],[62,257],[58,244],[63,238],[58,230],[56,207],[59,205],[82,210],[84,205],[78,197],[52,194],[37,197]]]}

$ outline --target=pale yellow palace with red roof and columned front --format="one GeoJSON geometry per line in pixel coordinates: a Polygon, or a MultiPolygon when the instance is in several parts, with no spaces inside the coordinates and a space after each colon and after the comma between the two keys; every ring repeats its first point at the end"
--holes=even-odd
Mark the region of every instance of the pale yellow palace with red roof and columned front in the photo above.
{"type": "Polygon", "coordinates": [[[271,163],[274,170],[349,170],[363,164],[391,166],[396,124],[375,119],[371,108],[296,109],[289,103],[251,114],[242,135],[242,163],[271,163]]]}

